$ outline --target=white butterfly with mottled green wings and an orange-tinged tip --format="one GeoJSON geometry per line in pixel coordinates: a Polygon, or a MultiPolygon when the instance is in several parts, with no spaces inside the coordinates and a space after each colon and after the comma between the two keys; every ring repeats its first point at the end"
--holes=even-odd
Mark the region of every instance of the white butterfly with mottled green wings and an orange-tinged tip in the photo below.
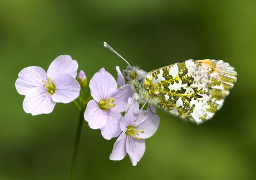
{"type": "MultiPolygon", "coordinates": [[[[104,46],[119,55],[105,42],[104,46]]],[[[237,71],[223,60],[189,59],[148,73],[126,63],[124,78],[136,100],[196,124],[213,117],[237,81],[237,71]]]]}

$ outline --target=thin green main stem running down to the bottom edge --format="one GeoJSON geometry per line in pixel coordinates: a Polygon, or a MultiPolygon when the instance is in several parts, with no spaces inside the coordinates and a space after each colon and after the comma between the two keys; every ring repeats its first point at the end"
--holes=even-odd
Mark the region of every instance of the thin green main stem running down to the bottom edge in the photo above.
{"type": "Polygon", "coordinates": [[[74,177],[75,177],[77,152],[78,152],[78,146],[79,146],[82,124],[83,124],[83,112],[84,111],[80,111],[80,117],[79,117],[77,128],[76,128],[75,142],[74,142],[74,146],[73,146],[71,163],[70,163],[70,176],[68,178],[70,180],[74,179],[74,177]]]}

